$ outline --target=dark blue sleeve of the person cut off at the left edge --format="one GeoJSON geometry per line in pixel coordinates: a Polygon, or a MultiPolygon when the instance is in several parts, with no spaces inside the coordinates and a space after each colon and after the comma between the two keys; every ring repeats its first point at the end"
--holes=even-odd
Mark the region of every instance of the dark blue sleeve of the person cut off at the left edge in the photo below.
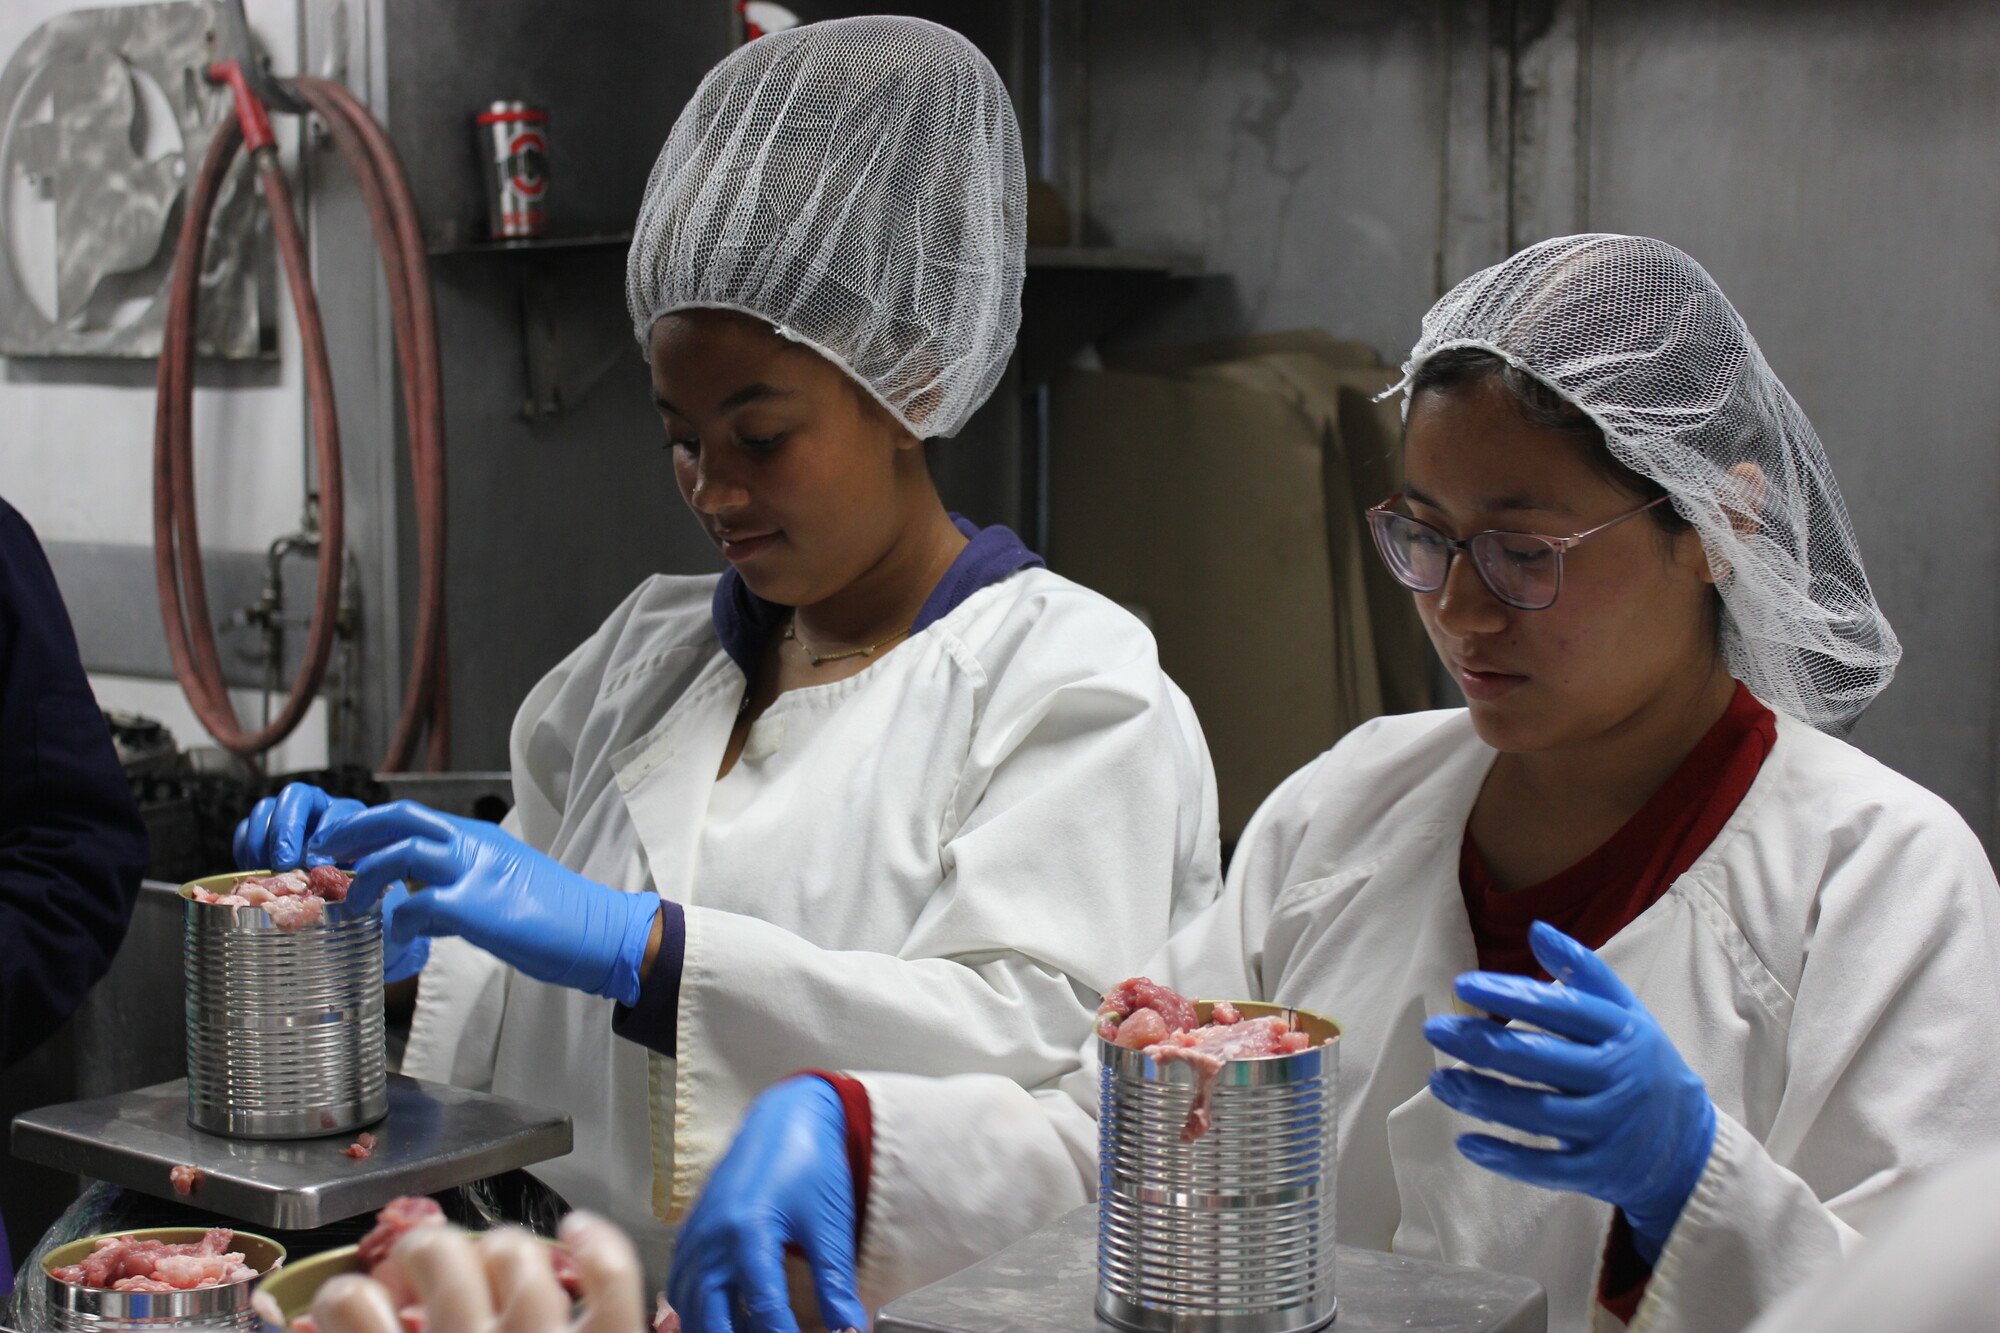
{"type": "Polygon", "coordinates": [[[0,1067],[110,967],[144,869],[146,825],[56,576],[0,500],[0,1067]]]}

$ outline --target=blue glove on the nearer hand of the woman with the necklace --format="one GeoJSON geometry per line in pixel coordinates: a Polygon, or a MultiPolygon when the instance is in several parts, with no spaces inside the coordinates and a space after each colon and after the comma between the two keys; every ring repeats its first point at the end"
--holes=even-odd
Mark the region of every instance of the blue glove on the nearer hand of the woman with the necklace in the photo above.
{"type": "Polygon", "coordinates": [[[354,867],[356,911],[398,879],[424,885],[394,909],[388,959],[420,935],[458,935],[536,981],[638,1003],[660,899],[584,879],[500,825],[392,801],[322,825],[308,855],[354,867]]]}

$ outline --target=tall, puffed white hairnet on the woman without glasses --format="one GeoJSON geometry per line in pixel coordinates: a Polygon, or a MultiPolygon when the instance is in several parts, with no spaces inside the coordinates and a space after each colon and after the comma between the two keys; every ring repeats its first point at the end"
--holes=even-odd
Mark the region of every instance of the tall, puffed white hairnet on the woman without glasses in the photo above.
{"type": "Polygon", "coordinates": [[[1014,106],[966,38],[840,18],[718,64],[646,182],[626,304],[742,310],[852,374],[916,436],[1000,382],[1020,326],[1026,174],[1014,106]]]}

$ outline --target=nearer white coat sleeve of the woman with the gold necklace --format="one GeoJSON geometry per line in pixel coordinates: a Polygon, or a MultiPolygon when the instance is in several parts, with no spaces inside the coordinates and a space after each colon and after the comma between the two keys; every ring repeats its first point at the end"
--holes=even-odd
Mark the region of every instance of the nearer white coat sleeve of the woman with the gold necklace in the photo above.
{"type": "MultiPolygon", "coordinates": [[[[1036,666],[1036,664],[1028,664],[1036,666]]],[[[1148,640],[1086,669],[996,673],[944,819],[940,883],[896,953],[822,949],[690,905],[676,1101],[748,1105],[808,1067],[1000,1075],[1076,1069],[1096,995],[1216,887],[1214,777],[1148,640]]],[[[732,1117],[678,1117],[676,1197],[732,1117]]]]}

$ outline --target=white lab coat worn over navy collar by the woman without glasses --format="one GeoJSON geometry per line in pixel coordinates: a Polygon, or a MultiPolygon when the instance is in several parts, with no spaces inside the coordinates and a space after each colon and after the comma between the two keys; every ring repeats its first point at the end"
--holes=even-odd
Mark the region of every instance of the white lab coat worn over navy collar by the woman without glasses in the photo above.
{"type": "Polygon", "coordinates": [[[512,831],[686,909],[678,1059],[612,1003],[436,941],[404,1071],[568,1111],[536,1167],[664,1279],[750,1099],[810,1067],[1074,1065],[1096,993],[1214,899],[1216,793],[1152,634],[1042,568],[856,677],[782,695],[716,781],[744,673],[714,578],[644,582],[514,723],[512,831]]]}

